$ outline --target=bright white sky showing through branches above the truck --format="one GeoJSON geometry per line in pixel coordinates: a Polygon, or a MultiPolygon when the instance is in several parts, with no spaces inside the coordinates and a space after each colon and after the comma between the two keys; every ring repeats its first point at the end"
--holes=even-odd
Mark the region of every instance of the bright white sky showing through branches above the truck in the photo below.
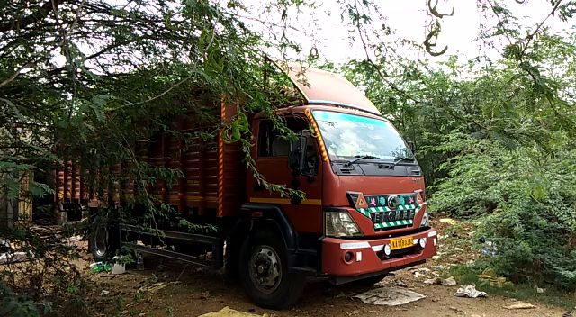
{"type": "MultiPolygon", "coordinates": [[[[496,1],[496,0],[491,0],[496,1]]],[[[501,1],[501,0],[500,0],[501,1]]],[[[259,21],[268,21],[278,23],[280,21],[280,12],[265,12],[266,5],[262,1],[248,0],[247,23],[251,24],[256,30],[262,31],[265,36],[271,36],[272,33],[277,35],[281,28],[270,28],[259,21]]],[[[427,0],[378,0],[380,12],[385,16],[385,20],[378,19],[376,14],[371,14],[371,18],[376,23],[386,23],[396,31],[395,35],[385,37],[386,41],[392,41],[395,38],[403,38],[418,43],[422,43],[427,35],[427,24],[430,23],[431,17],[428,14],[427,0]]],[[[520,23],[529,28],[536,28],[536,24],[542,22],[546,15],[552,10],[548,0],[526,0],[524,4],[518,4],[514,0],[504,1],[509,10],[515,14],[520,23]]],[[[333,62],[343,63],[348,59],[362,58],[365,51],[358,40],[357,32],[349,32],[351,27],[340,18],[341,9],[336,0],[324,0],[320,2],[315,9],[302,8],[302,11],[289,11],[288,25],[299,31],[289,28],[290,38],[302,45],[304,53],[310,52],[311,47],[318,48],[320,58],[328,59],[333,62]],[[352,43],[350,37],[353,38],[352,43]]],[[[437,39],[437,50],[442,50],[446,45],[448,50],[446,54],[434,58],[423,51],[405,49],[401,52],[413,59],[428,59],[432,62],[443,61],[450,55],[458,55],[461,60],[473,59],[479,55],[479,50],[486,53],[491,59],[500,57],[500,50],[506,43],[496,43],[496,48],[487,48],[482,45],[482,41],[476,41],[480,32],[480,25],[488,23],[495,25],[498,20],[494,16],[484,16],[480,9],[477,8],[478,2],[475,0],[440,0],[437,9],[442,14],[447,14],[455,9],[453,16],[444,17],[440,23],[442,32],[437,39]]],[[[376,24],[374,23],[374,24],[376,24]]],[[[573,22],[572,22],[573,23],[573,22]]],[[[565,32],[570,28],[571,23],[564,23],[557,17],[551,17],[545,23],[553,32],[565,32]]],[[[272,55],[275,53],[272,52],[272,55]]],[[[291,58],[302,59],[303,56],[291,58]]]]}

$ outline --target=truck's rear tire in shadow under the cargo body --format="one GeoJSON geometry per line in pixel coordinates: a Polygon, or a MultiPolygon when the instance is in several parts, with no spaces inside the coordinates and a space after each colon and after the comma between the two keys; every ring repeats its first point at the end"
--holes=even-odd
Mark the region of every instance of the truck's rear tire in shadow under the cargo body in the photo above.
{"type": "Polygon", "coordinates": [[[92,222],[92,234],[90,235],[90,249],[94,261],[111,259],[118,249],[118,237],[107,222],[94,219],[92,222]]]}

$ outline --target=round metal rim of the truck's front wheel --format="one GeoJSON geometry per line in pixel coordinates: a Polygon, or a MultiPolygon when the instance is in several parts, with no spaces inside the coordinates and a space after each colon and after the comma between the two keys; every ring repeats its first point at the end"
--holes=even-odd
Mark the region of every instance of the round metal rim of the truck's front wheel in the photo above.
{"type": "Polygon", "coordinates": [[[282,281],[282,263],[275,249],[266,245],[252,251],[248,263],[250,279],[259,292],[272,294],[282,281]]]}

